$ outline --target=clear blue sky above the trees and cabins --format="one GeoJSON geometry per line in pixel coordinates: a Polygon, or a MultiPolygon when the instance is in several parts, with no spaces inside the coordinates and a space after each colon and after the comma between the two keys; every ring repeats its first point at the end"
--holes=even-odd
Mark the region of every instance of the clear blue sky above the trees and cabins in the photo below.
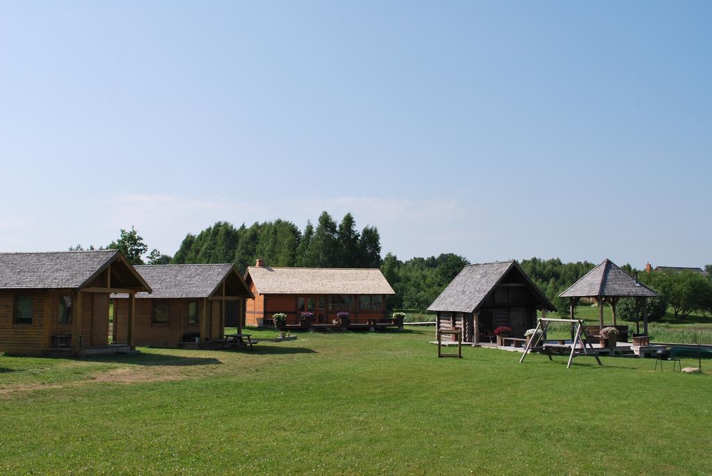
{"type": "Polygon", "coordinates": [[[712,263],[709,2],[3,2],[0,250],[322,210],[399,258],[712,263]]]}

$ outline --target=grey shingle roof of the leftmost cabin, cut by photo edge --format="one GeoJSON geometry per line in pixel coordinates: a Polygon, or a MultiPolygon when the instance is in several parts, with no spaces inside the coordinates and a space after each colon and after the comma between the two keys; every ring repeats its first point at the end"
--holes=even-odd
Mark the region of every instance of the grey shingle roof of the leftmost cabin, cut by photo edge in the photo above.
{"type": "Polygon", "coordinates": [[[117,250],[0,253],[0,289],[82,287],[117,254],[117,250]]]}

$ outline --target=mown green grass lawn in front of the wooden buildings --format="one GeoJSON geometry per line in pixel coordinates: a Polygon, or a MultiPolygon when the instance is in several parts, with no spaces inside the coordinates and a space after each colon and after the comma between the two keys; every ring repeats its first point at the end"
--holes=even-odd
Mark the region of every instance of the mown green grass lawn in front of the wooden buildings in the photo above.
{"type": "Polygon", "coordinates": [[[437,359],[431,334],[0,356],[0,474],[712,473],[708,373],[471,347],[437,359]]]}

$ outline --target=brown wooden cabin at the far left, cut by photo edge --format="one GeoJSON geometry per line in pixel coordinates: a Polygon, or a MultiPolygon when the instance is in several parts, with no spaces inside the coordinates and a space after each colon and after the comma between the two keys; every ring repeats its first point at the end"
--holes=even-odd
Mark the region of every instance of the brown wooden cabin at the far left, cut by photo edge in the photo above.
{"type": "Polygon", "coordinates": [[[0,253],[0,351],[91,355],[130,350],[130,327],[125,345],[110,345],[111,292],[151,292],[117,250],[0,253]]]}

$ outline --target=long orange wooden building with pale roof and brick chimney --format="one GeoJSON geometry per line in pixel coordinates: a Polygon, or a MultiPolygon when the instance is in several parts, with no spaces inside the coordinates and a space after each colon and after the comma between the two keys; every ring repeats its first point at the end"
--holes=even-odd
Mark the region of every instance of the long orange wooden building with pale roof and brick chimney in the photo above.
{"type": "Polygon", "coordinates": [[[292,326],[300,324],[302,312],[314,313],[313,327],[333,325],[338,312],[349,313],[349,324],[335,327],[392,324],[386,296],[395,292],[377,268],[272,268],[257,260],[245,282],[254,295],[247,302],[248,325],[271,325],[278,312],[292,326]]]}

